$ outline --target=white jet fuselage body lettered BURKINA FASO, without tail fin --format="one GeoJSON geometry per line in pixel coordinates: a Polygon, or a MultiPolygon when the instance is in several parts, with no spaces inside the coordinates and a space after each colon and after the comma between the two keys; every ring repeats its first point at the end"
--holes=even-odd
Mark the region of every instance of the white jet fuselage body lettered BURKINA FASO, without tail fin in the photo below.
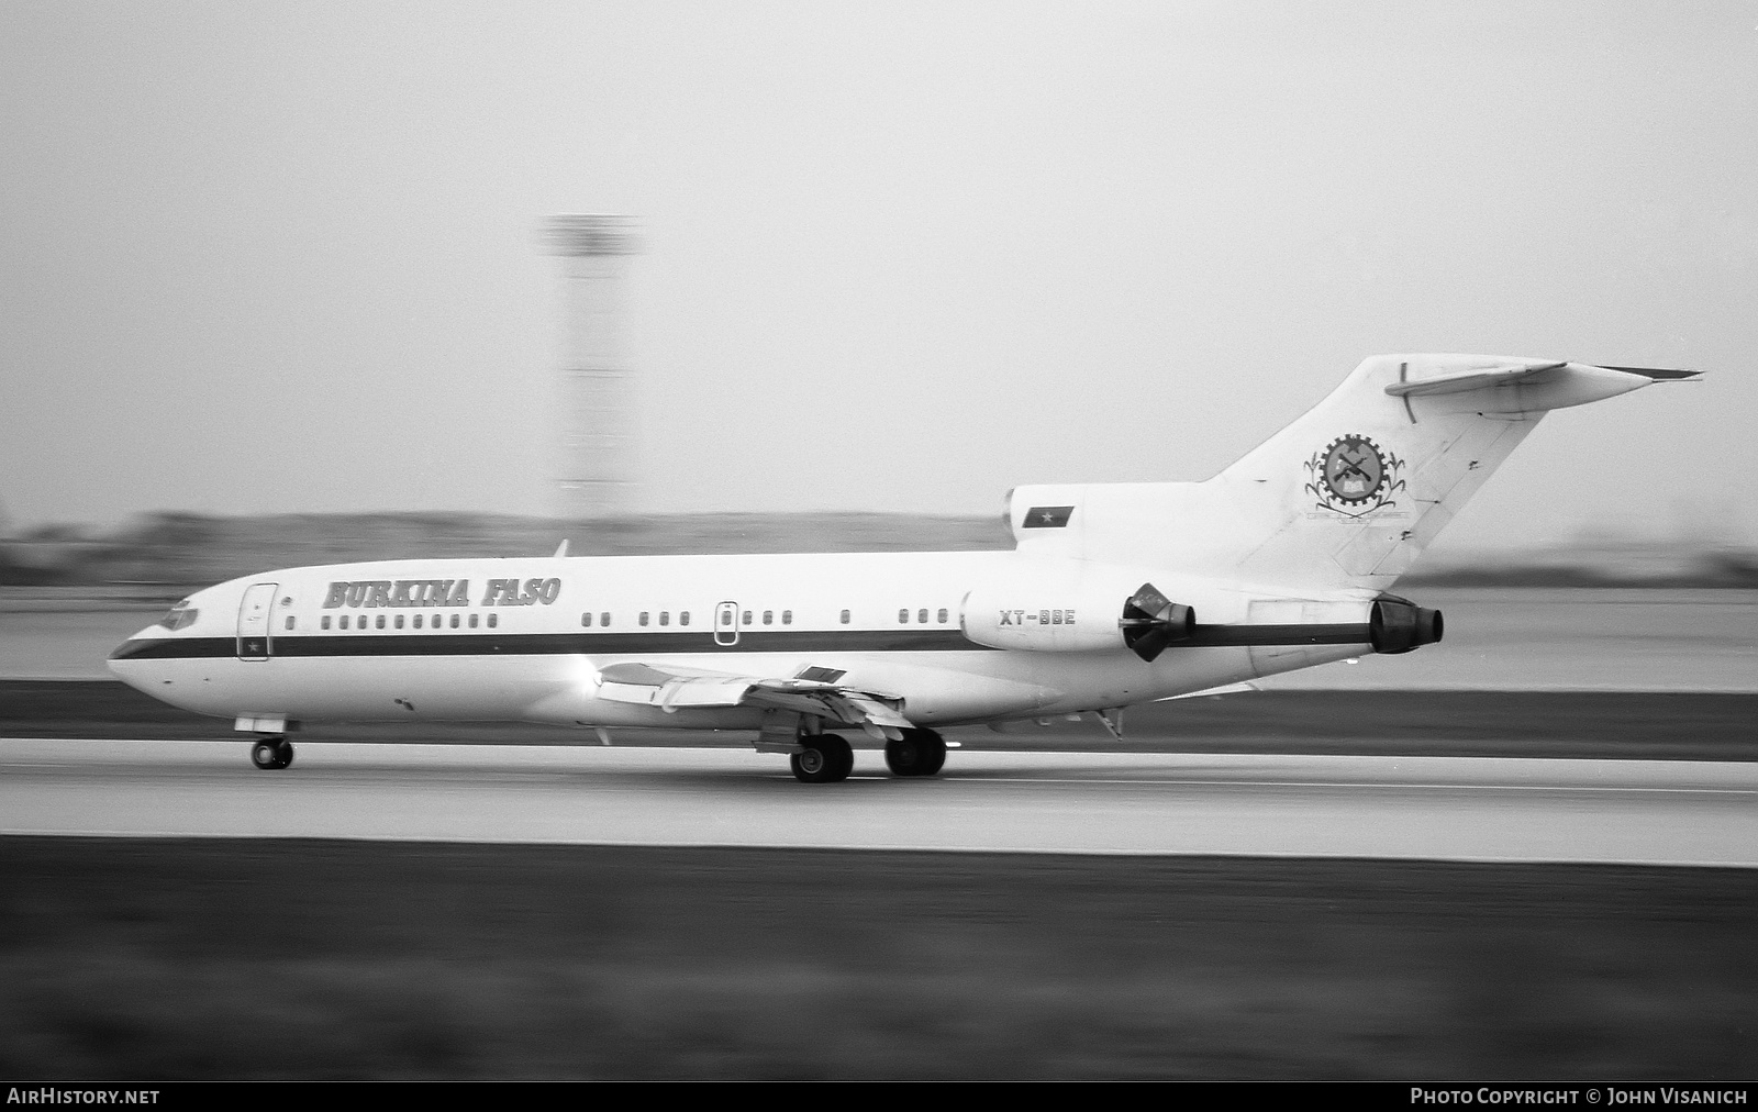
{"type": "Polygon", "coordinates": [[[601,670],[835,674],[935,727],[1122,707],[1357,656],[1371,651],[1371,596],[1289,611],[1285,593],[1016,551],[403,560],[197,591],[118,647],[111,669],[174,706],[239,720],[705,730],[756,728],[761,713],[603,699],[601,670]],[[1113,644],[1116,607],[1092,602],[1150,577],[1197,616],[1188,640],[1151,662],[1113,644]],[[1071,647],[1076,632],[1102,646],[1071,647]]]}

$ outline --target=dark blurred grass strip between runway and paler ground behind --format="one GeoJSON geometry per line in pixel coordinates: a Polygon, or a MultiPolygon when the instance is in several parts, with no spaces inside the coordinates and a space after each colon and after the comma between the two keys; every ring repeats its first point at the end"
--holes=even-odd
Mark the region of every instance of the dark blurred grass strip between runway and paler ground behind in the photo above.
{"type": "MultiPolygon", "coordinates": [[[[1092,716],[956,727],[969,750],[1109,753],[1357,753],[1758,760],[1751,691],[1250,691],[1130,707],[1113,739],[1092,716]]],[[[745,734],[614,730],[619,744],[749,744],[745,734]]],[[[230,720],[162,704],[116,681],[0,679],[0,737],[239,741],[230,720]]],[[[531,723],[313,723],[295,741],[598,744],[531,723]]],[[[872,748],[856,734],[856,748],[872,748]]]]}

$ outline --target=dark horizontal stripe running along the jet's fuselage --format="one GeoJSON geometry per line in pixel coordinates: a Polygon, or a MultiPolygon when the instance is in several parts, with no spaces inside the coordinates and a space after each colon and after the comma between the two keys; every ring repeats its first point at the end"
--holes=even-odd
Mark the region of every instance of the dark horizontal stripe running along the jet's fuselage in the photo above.
{"type": "MultiPolygon", "coordinates": [[[[272,656],[622,656],[710,653],[983,653],[958,630],[800,630],[742,632],[737,644],[714,633],[287,633],[272,656]]],[[[1239,646],[1368,644],[1361,625],[1195,626],[1169,649],[1239,646]]],[[[988,649],[993,651],[993,649],[988,649]]],[[[128,640],[111,660],[202,660],[237,656],[234,637],[128,640]]]]}

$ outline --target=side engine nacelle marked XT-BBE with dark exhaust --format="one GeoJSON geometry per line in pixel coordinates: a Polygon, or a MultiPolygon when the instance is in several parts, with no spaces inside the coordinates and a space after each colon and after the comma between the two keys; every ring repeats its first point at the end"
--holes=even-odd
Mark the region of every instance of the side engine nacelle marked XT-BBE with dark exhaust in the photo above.
{"type": "Polygon", "coordinates": [[[1134,593],[1111,584],[1006,584],[965,595],[965,637],[990,649],[1099,653],[1130,649],[1153,660],[1195,628],[1195,611],[1169,602],[1153,584],[1134,593]]]}

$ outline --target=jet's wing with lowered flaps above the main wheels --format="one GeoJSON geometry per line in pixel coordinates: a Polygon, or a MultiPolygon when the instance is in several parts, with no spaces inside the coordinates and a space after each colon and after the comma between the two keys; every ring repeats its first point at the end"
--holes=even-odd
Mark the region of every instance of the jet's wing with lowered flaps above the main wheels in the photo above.
{"type": "Polygon", "coordinates": [[[698,669],[614,663],[599,674],[598,697],[612,702],[654,706],[661,711],[701,707],[763,707],[816,714],[860,727],[867,734],[897,741],[912,728],[904,718],[904,700],[883,691],[863,691],[835,683],[835,669],[802,669],[791,677],[733,676],[698,669]]]}

